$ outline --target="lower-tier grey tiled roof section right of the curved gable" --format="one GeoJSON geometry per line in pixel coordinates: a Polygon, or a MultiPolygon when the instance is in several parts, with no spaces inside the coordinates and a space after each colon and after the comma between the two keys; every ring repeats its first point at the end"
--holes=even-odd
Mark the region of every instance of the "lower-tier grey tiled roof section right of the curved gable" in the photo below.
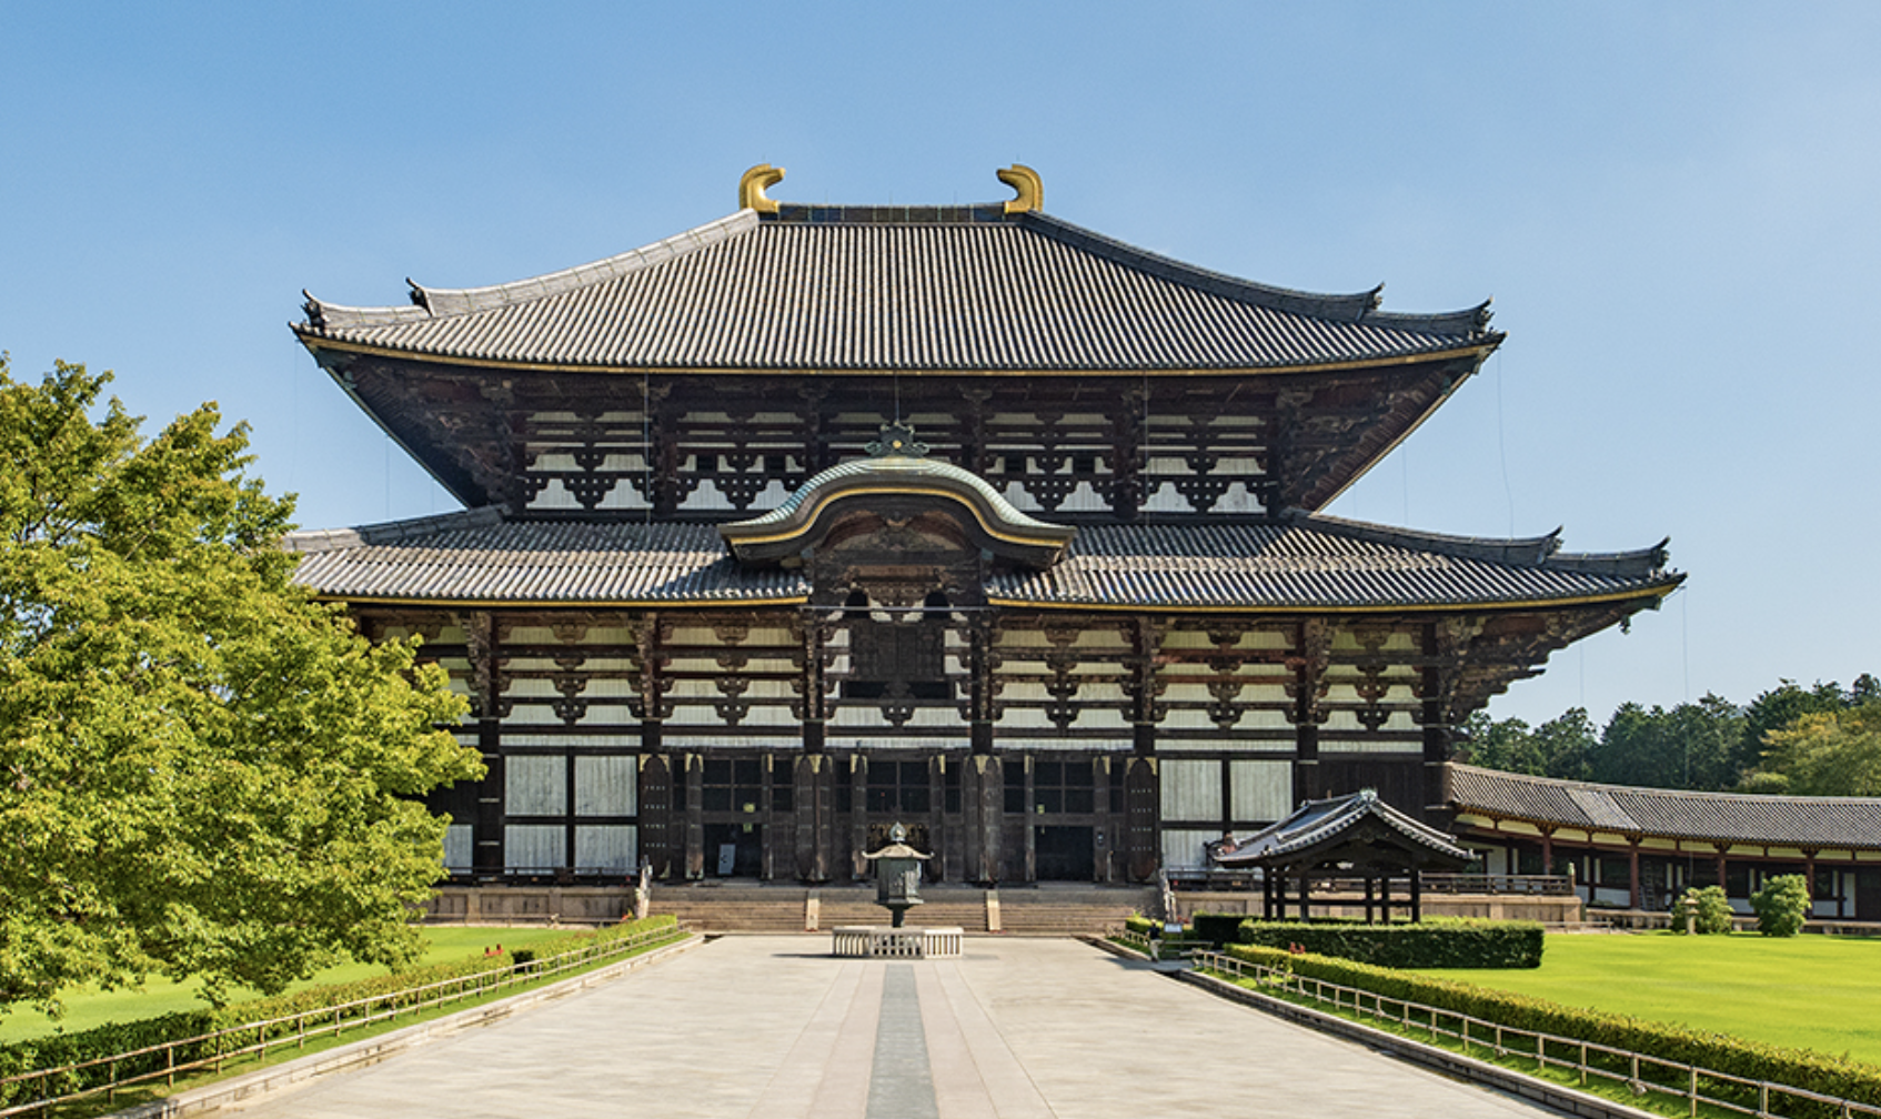
{"type": "Polygon", "coordinates": [[[993,579],[995,600],[1191,607],[1433,607],[1670,591],[1663,545],[1556,555],[1552,536],[1484,542],[1337,517],[1257,525],[1089,525],[1063,562],[993,579]],[[1588,568],[1595,570],[1588,570],[1588,568]]]}

